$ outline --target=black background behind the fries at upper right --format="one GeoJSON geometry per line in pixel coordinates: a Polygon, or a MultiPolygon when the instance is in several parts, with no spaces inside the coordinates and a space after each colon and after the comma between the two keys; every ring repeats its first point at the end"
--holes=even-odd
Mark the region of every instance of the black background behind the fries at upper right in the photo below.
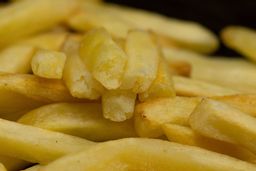
{"type": "MultiPolygon", "coordinates": [[[[0,2],[8,0],[0,0],[0,2]]],[[[210,28],[215,34],[228,25],[256,29],[256,0],[105,0],[147,9],[170,17],[192,20],[210,28]]],[[[223,45],[217,55],[238,56],[223,45]]]]}

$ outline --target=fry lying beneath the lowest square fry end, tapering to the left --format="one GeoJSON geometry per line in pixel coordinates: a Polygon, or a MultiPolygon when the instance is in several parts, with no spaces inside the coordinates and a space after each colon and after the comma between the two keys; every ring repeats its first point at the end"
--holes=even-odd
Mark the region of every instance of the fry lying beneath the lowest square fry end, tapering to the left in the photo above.
{"type": "Polygon", "coordinates": [[[102,117],[101,104],[56,103],[28,112],[18,121],[92,141],[134,137],[132,120],[112,122],[102,117]]]}

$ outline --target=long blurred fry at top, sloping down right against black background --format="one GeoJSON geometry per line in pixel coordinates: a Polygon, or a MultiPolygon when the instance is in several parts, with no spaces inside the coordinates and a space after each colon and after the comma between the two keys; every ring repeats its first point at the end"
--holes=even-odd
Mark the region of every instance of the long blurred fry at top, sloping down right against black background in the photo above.
{"type": "Polygon", "coordinates": [[[153,30],[169,44],[202,53],[213,52],[218,47],[217,38],[197,23],[107,3],[84,5],[80,13],[70,18],[69,25],[78,30],[102,26],[122,38],[132,28],[153,30]]]}

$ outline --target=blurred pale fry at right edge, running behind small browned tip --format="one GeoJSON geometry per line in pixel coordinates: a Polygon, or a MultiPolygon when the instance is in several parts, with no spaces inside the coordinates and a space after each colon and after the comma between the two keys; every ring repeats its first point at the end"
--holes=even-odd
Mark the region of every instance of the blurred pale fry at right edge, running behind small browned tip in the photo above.
{"type": "Polygon", "coordinates": [[[184,60],[192,65],[191,77],[244,93],[256,93],[256,67],[240,59],[203,56],[188,50],[164,48],[164,57],[170,63],[184,60]]]}

